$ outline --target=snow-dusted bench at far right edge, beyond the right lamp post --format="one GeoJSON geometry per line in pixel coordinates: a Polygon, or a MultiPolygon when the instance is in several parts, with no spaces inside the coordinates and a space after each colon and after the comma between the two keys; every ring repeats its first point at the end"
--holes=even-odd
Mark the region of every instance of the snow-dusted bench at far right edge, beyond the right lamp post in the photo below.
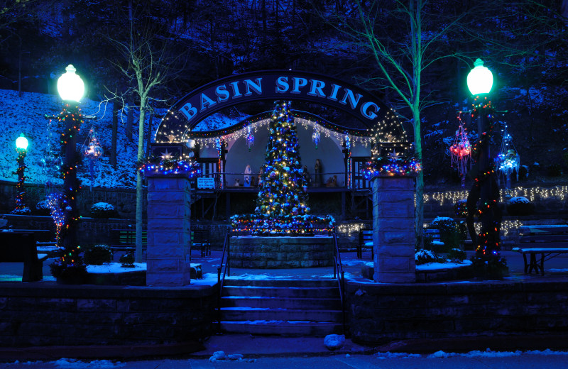
{"type": "Polygon", "coordinates": [[[523,254],[525,273],[532,270],[545,275],[545,261],[568,253],[568,226],[520,226],[517,229],[518,239],[513,251],[523,254]],[[527,254],[530,255],[527,260],[527,254]],[[537,261],[537,254],[540,260],[537,261]]]}

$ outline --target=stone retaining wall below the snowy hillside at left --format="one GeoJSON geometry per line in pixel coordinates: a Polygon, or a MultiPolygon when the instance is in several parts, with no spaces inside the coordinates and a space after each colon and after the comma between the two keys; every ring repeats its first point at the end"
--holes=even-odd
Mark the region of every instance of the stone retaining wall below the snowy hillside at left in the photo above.
{"type": "MultiPolygon", "coordinates": [[[[45,200],[45,187],[41,184],[24,184],[26,205],[35,213],[35,204],[45,200]]],[[[146,189],[144,189],[144,213],[146,214],[146,189]]],[[[0,213],[9,213],[15,207],[16,182],[0,181],[0,213]]],[[[97,202],[108,202],[119,212],[122,219],[136,218],[136,189],[107,189],[83,187],[77,197],[81,216],[90,216],[91,206],[97,202]]]]}

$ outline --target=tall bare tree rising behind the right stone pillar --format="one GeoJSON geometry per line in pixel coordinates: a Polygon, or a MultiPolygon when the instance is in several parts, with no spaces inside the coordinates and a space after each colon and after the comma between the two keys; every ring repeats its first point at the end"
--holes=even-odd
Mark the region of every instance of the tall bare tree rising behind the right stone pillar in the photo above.
{"type": "MultiPolygon", "coordinates": [[[[420,112],[429,104],[422,94],[422,72],[442,57],[455,56],[449,53],[445,35],[457,26],[461,15],[447,22],[434,22],[427,13],[425,0],[395,0],[385,4],[381,1],[361,3],[356,0],[350,11],[334,13],[329,24],[345,35],[341,48],[366,50],[370,53],[378,76],[364,81],[372,82],[406,108],[410,109],[410,121],[414,130],[414,150],[417,160],[422,161],[422,138],[420,112]],[[390,6],[390,7],[389,7],[390,6]],[[345,14],[349,13],[349,17],[345,14]],[[397,28],[386,29],[386,23],[397,21],[397,28]],[[436,26],[435,26],[436,25],[436,26]],[[442,26],[443,25],[443,26],[442,26]],[[393,96],[394,95],[394,96],[393,96]]],[[[392,23],[391,23],[392,26],[392,23]]],[[[422,244],[424,219],[424,177],[419,173],[416,180],[416,239],[422,244]]]]}

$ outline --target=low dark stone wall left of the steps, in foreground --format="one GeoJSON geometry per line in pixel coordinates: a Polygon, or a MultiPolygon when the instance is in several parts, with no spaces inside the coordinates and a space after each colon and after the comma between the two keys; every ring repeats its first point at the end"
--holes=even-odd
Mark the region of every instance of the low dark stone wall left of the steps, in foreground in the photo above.
{"type": "Polygon", "coordinates": [[[0,347],[195,341],[214,327],[217,285],[0,285],[0,347]]]}

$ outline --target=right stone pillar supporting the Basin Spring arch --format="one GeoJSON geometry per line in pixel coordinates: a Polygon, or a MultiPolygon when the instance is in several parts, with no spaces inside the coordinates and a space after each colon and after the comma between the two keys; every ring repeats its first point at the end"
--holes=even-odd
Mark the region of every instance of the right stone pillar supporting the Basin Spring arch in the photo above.
{"type": "Polygon", "coordinates": [[[414,177],[375,177],[373,249],[375,282],[416,282],[414,177]]]}

